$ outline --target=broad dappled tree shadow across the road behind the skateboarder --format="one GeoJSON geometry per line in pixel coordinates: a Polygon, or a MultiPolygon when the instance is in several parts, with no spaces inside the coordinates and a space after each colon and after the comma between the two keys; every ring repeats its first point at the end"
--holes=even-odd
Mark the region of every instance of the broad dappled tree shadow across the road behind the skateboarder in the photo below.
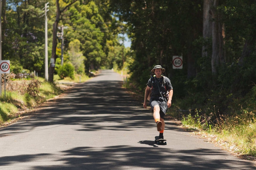
{"type": "MultiPolygon", "coordinates": [[[[42,106],[32,112],[29,119],[20,120],[18,126],[4,128],[8,134],[26,132],[38,126],[56,124],[81,124],[80,131],[126,130],[130,128],[149,127],[154,121],[150,109],[144,109],[142,103],[133,99],[125,89],[121,88],[120,81],[92,81],[78,84],[65,93],[61,98],[42,106]],[[150,115],[150,116],[149,116],[150,115]],[[117,122],[108,126],[99,126],[99,122],[117,122]]],[[[183,130],[175,126],[168,127],[183,130]]]]}

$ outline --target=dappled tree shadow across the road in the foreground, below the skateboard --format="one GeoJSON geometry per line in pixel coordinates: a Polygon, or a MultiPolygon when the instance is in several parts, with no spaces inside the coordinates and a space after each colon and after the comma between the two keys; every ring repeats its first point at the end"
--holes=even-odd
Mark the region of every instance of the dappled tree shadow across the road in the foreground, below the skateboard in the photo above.
{"type": "Polygon", "coordinates": [[[1,157],[0,166],[37,160],[48,160],[49,166],[33,166],[35,170],[71,169],[255,169],[239,160],[206,159],[223,155],[219,150],[166,150],[165,148],[143,148],[117,145],[105,148],[77,147],[64,150],[60,156],[51,154],[18,155],[1,157]],[[162,153],[165,153],[163,155],[162,153]],[[61,162],[61,165],[58,163],[61,162]]]}

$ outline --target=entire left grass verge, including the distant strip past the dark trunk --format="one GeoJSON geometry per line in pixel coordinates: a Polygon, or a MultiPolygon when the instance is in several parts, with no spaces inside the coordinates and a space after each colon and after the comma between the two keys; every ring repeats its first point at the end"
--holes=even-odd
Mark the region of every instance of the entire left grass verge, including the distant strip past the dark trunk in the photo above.
{"type": "Polygon", "coordinates": [[[69,85],[62,88],[59,83],[85,82],[88,79],[89,77],[85,75],[75,75],[74,80],[69,78],[59,80],[58,75],[54,75],[54,84],[45,81],[42,77],[9,80],[6,83],[6,91],[4,92],[3,85],[0,96],[0,126],[22,116],[24,110],[37,107],[48,99],[60,95],[64,89],[72,87],[69,85]]]}

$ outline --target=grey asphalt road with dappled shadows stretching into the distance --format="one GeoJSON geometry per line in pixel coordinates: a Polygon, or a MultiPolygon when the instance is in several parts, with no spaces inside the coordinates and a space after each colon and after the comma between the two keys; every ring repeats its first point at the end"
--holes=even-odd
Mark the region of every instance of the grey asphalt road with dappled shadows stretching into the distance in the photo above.
{"type": "Polygon", "coordinates": [[[167,145],[156,145],[152,113],[121,88],[122,81],[102,70],[1,129],[0,169],[256,169],[171,121],[164,132],[167,145]]]}

